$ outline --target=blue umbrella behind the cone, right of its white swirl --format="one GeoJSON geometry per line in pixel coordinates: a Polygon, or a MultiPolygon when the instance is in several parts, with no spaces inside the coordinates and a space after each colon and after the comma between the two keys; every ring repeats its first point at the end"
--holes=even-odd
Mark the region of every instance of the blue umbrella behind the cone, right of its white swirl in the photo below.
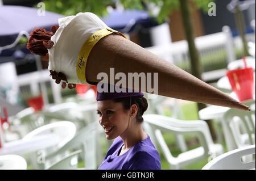
{"type": "Polygon", "coordinates": [[[158,25],[147,11],[142,10],[116,10],[114,9],[102,20],[114,30],[129,33],[135,26],[149,28],[158,25]]]}

